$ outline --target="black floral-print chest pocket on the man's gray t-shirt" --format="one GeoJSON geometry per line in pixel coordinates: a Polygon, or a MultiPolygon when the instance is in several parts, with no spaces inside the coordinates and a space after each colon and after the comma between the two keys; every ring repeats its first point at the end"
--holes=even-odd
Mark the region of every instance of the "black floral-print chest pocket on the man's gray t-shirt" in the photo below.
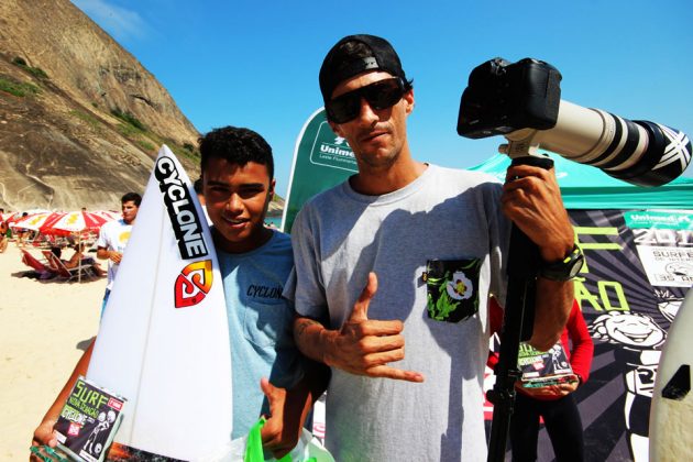
{"type": "Polygon", "coordinates": [[[429,260],[424,280],[428,289],[428,317],[460,322],[479,311],[480,258],[429,260]]]}

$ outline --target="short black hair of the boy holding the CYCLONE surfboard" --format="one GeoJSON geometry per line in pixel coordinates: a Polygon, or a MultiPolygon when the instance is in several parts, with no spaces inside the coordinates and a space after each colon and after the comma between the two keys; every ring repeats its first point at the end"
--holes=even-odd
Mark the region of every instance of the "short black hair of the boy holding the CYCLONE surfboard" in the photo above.
{"type": "Polygon", "coordinates": [[[264,165],[270,180],[274,178],[272,147],[260,134],[250,129],[223,127],[215,129],[199,139],[200,168],[205,172],[209,160],[223,158],[231,164],[245,165],[249,162],[264,165]]]}

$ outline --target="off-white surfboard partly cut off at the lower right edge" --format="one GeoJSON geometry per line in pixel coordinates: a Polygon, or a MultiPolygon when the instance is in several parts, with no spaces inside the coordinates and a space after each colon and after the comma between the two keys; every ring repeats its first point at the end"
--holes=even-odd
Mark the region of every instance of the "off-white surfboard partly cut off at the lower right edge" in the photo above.
{"type": "Polygon", "coordinates": [[[693,460],[693,290],[669,328],[650,409],[650,460],[693,460]]]}

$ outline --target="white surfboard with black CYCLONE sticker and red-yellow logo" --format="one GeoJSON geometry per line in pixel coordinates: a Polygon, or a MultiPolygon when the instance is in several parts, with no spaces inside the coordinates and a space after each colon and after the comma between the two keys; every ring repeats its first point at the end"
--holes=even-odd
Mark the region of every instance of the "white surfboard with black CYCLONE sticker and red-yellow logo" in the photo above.
{"type": "Polygon", "coordinates": [[[190,180],[165,145],[87,377],[128,400],[111,453],[125,446],[209,460],[231,438],[231,353],[219,263],[190,180]]]}

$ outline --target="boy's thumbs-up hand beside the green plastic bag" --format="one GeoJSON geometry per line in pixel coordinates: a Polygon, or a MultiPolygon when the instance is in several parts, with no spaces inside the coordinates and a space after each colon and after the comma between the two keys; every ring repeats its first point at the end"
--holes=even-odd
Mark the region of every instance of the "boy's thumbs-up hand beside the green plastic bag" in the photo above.
{"type": "Polygon", "coordinates": [[[298,419],[290,419],[290,416],[284,419],[286,389],[272,385],[264,377],[260,381],[260,387],[267,397],[271,414],[261,430],[262,446],[279,460],[298,443],[301,433],[300,416],[298,419]]]}

